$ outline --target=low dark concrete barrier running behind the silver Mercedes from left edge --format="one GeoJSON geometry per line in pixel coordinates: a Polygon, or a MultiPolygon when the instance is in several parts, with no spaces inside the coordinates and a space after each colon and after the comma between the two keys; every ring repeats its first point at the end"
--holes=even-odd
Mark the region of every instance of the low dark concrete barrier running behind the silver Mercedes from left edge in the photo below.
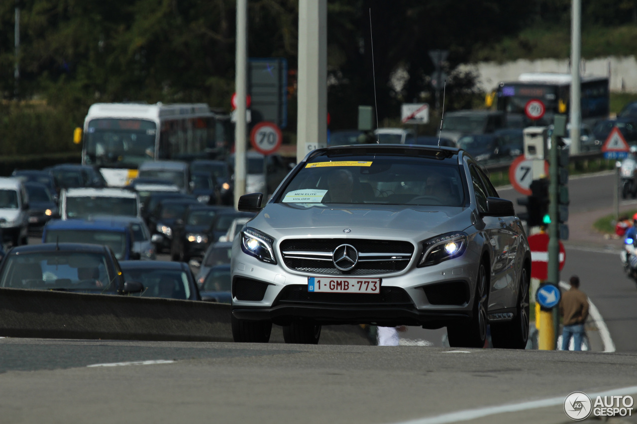
{"type": "MultiPolygon", "coordinates": [[[[20,288],[0,288],[0,336],[233,341],[229,304],[20,288]]],[[[357,325],[324,327],[320,343],[371,344],[357,325]]]]}

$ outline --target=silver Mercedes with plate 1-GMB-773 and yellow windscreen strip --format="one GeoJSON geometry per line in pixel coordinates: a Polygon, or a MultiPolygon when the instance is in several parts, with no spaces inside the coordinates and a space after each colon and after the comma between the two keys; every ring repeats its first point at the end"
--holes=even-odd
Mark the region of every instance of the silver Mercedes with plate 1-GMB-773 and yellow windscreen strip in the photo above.
{"type": "Polygon", "coordinates": [[[321,325],[447,327],[451,346],[524,348],[531,253],[513,204],[466,152],[357,145],[309,153],[232,253],[235,341],[318,343],[321,325]]]}

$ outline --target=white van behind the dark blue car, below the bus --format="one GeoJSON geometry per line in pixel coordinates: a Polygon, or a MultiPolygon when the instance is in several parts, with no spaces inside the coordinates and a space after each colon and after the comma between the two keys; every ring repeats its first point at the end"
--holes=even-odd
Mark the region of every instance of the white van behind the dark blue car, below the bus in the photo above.
{"type": "Polygon", "coordinates": [[[60,194],[60,215],[63,220],[98,215],[141,217],[140,196],[122,188],[68,188],[60,194]]]}

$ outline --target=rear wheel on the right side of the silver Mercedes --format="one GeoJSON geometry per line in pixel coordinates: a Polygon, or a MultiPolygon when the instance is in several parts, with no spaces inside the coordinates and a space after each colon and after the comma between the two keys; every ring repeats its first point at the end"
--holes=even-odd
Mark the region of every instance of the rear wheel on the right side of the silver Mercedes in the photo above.
{"type": "Polygon", "coordinates": [[[517,315],[510,322],[491,324],[494,348],[524,349],[529,341],[529,277],[526,268],[522,269],[520,276],[516,309],[517,315]]]}

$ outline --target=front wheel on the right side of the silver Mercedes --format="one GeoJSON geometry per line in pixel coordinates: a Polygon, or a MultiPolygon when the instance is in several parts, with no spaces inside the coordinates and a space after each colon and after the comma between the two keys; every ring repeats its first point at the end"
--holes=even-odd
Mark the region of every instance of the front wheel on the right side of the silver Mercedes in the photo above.
{"type": "Polygon", "coordinates": [[[447,326],[449,346],[452,348],[483,348],[487,340],[487,306],[489,305],[490,281],[487,267],[480,262],[476,279],[476,294],[473,300],[473,317],[447,326]]]}

